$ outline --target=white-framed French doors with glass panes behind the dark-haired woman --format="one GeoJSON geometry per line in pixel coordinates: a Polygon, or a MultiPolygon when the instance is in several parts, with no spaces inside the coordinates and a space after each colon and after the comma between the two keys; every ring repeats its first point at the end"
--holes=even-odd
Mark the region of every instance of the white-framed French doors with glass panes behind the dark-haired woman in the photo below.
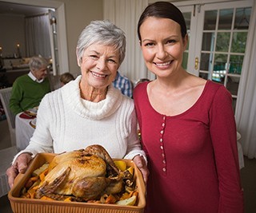
{"type": "Polygon", "coordinates": [[[186,20],[189,44],[183,67],[225,85],[235,110],[253,0],[178,6],[186,20]]]}

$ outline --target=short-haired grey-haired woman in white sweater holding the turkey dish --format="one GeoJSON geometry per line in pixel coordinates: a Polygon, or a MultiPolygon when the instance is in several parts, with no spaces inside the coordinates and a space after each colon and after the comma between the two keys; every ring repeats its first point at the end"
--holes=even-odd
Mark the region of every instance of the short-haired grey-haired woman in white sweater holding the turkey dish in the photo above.
{"type": "Polygon", "coordinates": [[[112,158],[134,160],[147,179],[134,101],[112,85],[125,57],[125,34],[109,21],[90,22],[76,53],[82,75],[42,99],[30,144],[6,172],[10,187],[38,152],[70,152],[91,144],[102,145],[112,158]]]}

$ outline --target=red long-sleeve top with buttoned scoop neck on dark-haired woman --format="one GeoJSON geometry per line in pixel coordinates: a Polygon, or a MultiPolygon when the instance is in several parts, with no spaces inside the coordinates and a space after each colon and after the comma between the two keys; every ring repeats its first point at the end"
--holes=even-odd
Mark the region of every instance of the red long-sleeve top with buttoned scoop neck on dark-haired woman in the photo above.
{"type": "Polygon", "coordinates": [[[148,160],[147,213],[242,213],[232,98],[207,81],[198,101],[177,116],[154,110],[149,82],[134,89],[134,102],[148,160]]]}

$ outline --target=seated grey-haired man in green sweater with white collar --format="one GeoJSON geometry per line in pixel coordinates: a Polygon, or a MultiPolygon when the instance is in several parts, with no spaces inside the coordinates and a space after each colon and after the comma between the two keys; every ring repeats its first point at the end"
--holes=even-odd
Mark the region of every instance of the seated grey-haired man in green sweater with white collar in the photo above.
{"type": "Polygon", "coordinates": [[[50,92],[47,76],[48,62],[43,57],[31,57],[30,73],[14,81],[10,97],[10,110],[15,115],[39,105],[42,97],[50,92]]]}

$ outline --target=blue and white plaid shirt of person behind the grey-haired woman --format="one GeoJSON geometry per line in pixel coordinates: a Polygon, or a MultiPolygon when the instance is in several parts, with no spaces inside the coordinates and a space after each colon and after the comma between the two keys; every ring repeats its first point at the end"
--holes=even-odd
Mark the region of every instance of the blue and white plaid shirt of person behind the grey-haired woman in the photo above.
{"type": "Polygon", "coordinates": [[[113,85],[115,88],[120,89],[122,94],[127,97],[133,97],[133,86],[127,77],[123,77],[120,73],[117,73],[113,85]]]}

